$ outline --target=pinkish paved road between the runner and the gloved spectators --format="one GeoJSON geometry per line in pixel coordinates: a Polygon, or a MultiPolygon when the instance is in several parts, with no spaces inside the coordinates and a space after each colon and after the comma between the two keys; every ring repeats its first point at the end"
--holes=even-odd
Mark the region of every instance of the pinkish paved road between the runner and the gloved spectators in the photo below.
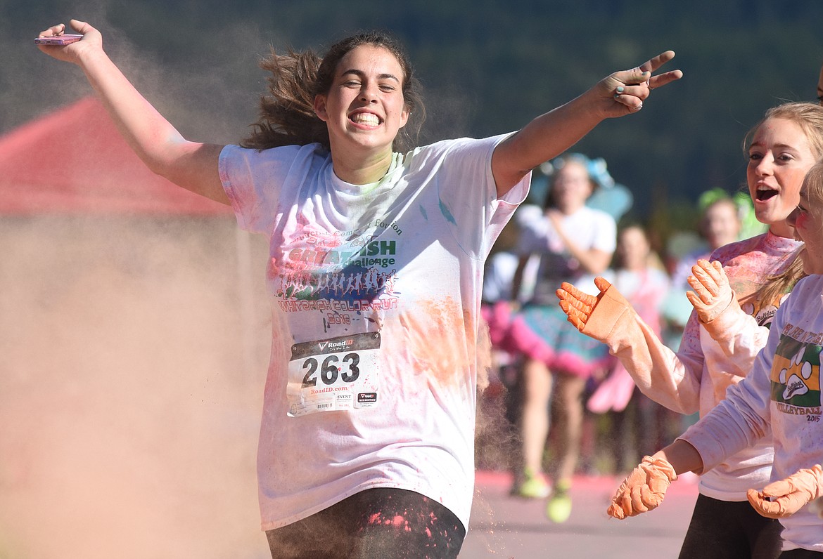
{"type": "Polygon", "coordinates": [[[460,559],[665,559],[677,557],[697,498],[697,484],[679,479],[663,505],[646,515],[613,520],[606,507],[622,478],[575,478],[574,508],[565,524],[543,515],[543,501],[509,497],[508,474],[477,472],[472,519],[460,559]]]}

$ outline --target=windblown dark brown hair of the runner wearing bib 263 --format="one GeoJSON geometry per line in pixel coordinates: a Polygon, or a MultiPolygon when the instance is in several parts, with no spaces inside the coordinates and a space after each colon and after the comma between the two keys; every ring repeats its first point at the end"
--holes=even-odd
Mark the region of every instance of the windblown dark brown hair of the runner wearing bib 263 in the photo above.
{"type": "Polygon", "coordinates": [[[314,113],[314,98],[332,88],[337,64],[360,45],[381,47],[392,53],[403,71],[402,93],[409,119],[394,139],[393,150],[406,151],[416,146],[425,120],[420,82],[412,64],[396,39],[380,31],[352,35],[333,44],[323,58],[313,51],[277,54],[274,49],[260,62],[272,76],[267,78],[268,94],[260,98],[260,118],[252,125],[251,135],[241,146],[265,150],[277,146],[305,146],[319,143],[330,149],[328,127],[314,113]]]}

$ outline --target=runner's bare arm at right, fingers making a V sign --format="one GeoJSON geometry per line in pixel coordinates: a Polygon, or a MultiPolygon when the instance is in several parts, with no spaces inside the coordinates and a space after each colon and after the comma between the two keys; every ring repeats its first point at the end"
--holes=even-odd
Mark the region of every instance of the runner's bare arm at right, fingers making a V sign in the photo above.
{"type": "Polygon", "coordinates": [[[569,103],[529,122],[500,142],[491,158],[497,194],[509,192],[526,174],[544,161],[560,155],[606,118],[636,113],[649,91],[683,76],[680,70],[652,76],[674,58],[667,50],[639,67],[614,72],[569,103]]]}

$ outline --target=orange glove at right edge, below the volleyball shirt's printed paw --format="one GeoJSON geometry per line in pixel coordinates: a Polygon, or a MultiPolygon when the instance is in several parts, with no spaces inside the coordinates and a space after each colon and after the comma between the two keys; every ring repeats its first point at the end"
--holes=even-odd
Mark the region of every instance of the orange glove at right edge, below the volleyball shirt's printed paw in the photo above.
{"type": "Polygon", "coordinates": [[[746,492],[751,506],[766,518],[784,518],[802,509],[809,501],[823,497],[823,468],[815,464],[788,478],[770,483],[763,491],[746,492]]]}

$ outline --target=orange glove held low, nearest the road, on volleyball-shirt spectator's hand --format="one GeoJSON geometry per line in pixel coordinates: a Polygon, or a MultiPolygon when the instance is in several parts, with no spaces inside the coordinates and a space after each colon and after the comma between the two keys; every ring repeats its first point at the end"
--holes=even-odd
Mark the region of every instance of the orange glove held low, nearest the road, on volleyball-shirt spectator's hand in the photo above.
{"type": "Polygon", "coordinates": [[[667,460],[644,456],[639,466],[623,480],[615,496],[611,497],[611,505],[606,512],[618,520],[649,512],[663,502],[668,486],[675,479],[677,474],[667,460]]]}

